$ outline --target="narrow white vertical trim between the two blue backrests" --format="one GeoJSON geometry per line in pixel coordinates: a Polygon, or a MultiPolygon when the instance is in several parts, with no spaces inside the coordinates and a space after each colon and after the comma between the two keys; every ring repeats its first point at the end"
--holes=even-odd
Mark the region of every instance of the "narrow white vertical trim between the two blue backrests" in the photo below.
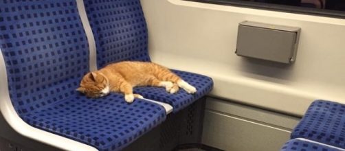
{"type": "Polygon", "coordinates": [[[87,19],[87,13],[83,0],[76,0],[82,26],[84,27],[85,34],[87,35],[87,41],[89,42],[89,67],[90,71],[97,70],[97,55],[96,55],[96,42],[93,36],[89,19],[87,19]]]}

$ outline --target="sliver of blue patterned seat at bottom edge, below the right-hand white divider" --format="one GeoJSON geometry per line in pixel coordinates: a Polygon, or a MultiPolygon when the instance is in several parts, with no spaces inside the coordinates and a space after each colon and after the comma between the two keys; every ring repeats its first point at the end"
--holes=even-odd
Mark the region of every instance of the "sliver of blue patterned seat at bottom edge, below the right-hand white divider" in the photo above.
{"type": "Polygon", "coordinates": [[[299,139],[291,139],[285,143],[280,151],[341,151],[337,148],[331,148],[319,143],[310,141],[302,141],[299,139]]]}

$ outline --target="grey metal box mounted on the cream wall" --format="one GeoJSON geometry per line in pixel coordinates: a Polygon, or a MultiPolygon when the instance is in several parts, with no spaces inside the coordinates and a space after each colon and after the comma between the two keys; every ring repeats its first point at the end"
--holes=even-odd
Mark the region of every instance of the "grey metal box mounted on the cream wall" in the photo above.
{"type": "Polygon", "coordinates": [[[245,21],[238,25],[236,54],[282,63],[296,60],[299,27],[245,21]]]}

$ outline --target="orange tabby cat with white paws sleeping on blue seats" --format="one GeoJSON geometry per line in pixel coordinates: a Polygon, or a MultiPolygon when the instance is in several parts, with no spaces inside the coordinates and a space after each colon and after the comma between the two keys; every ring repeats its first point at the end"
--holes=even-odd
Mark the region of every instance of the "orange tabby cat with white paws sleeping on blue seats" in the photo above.
{"type": "Polygon", "coordinates": [[[183,81],[169,69],[153,62],[124,61],[107,65],[106,67],[87,73],[80,82],[77,91],[85,93],[87,97],[103,97],[110,92],[124,94],[126,102],[133,102],[134,86],[162,86],[169,93],[176,93],[179,87],[187,93],[195,93],[197,89],[183,81]]]}

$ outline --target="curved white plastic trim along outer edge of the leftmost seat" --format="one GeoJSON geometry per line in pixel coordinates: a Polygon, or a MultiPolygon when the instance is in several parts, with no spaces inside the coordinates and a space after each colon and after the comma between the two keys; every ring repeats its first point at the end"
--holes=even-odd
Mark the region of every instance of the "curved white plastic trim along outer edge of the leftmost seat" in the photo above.
{"type": "Polygon", "coordinates": [[[96,148],[92,146],[87,146],[84,143],[74,141],[72,139],[67,139],[65,137],[60,137],[54,135],[51,132],[46,132],[38,128],[34,128],[29,124],[26,124],[21,117],[16,113],[12,102],[10,100],[10,94],[8,92],[8,78],[5,68],[5,60],[3,59],[3,54],[0,49],[0,113],[5,118],[5,121],[19,134],[36,141],[46,143],[49,146],[54,146],[61,150],[71,150],[71,151],[96,151],[96,148]]]}

